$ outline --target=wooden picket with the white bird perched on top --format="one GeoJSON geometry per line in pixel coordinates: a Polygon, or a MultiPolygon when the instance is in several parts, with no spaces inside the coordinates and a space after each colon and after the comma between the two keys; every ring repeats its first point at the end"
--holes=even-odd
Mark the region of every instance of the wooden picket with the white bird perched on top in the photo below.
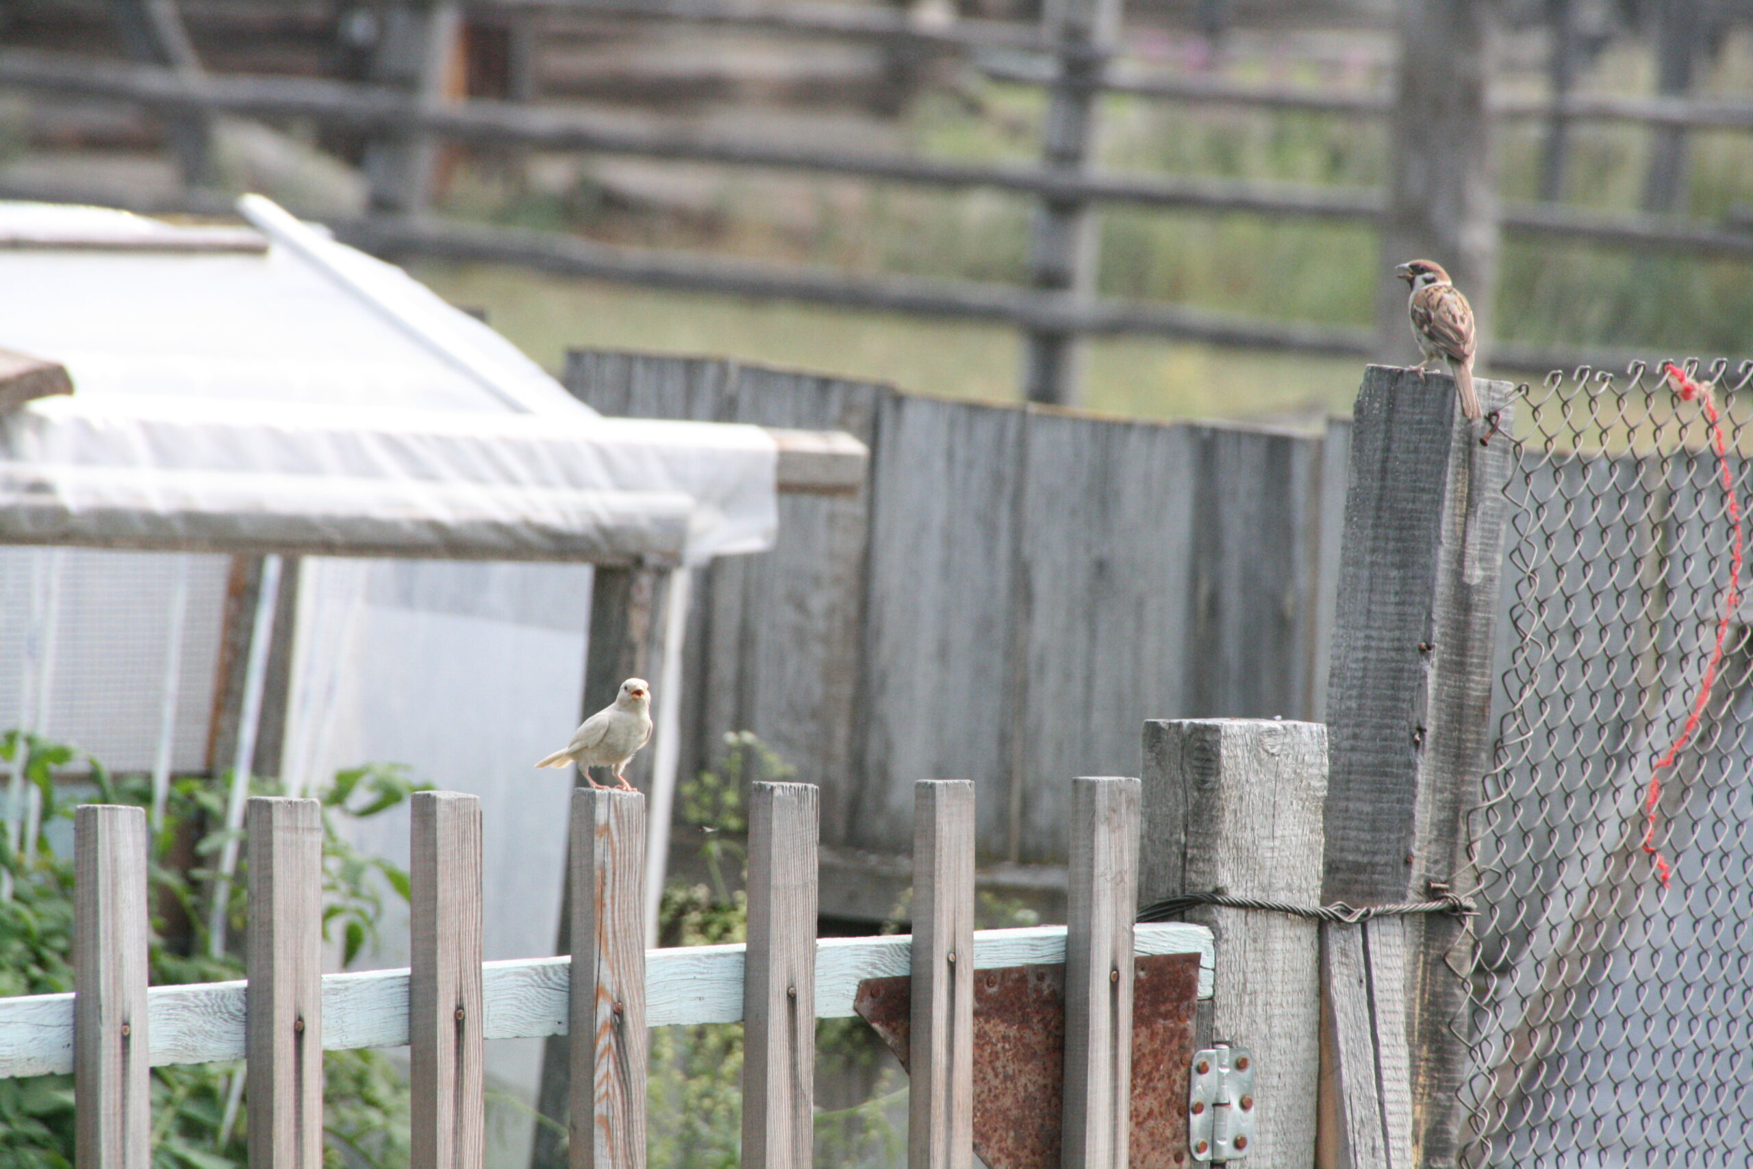
{"type": "Polygon", "coordinates": [[[645,796],[571,792],[571,1169],[645,1169],[645,796]]]}

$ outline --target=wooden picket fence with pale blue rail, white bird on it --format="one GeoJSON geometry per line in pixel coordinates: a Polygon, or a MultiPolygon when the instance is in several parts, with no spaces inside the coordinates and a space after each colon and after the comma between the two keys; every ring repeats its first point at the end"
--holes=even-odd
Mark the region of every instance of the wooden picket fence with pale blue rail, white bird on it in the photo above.
{"type": "Polygon", "coordinates": [[[317,1165],[321,1052],[407,1045],[412,1165],[459,1167],[484,1157],[484,1041],[591,1036],[571,1045],[571,1164],[636,1169],[645,1164],[647,1029],[742,1022],[742,1164],[808,1165],[813,1020],[850,1017],[866,978],[912,974],[910,1143],[947,1157],[971,1139],[975,969],[1064,962],[1064,1141],[1082,1150],[1068,1164],[1125,1164],[1132,957],[1199,953],[1199,992],[1210,997],[1211,932],[1134,927],[1139,782],[1073,787],[1068,927],[975,932],[975,785],[924,780],[915,934],[817,939],[819,792],[756,783],[749,943],[673,950],[645,948],[645,797],[575,789],[573,952],[512,962],[480,959],[479,799],[421,792],[410,829],[412,966],[347,974],[321,967],[317,801],[256,797],[247,981],[151,988],[145,813],[86,804],[75,815],[75,990],[0,1001],[0,1076],[72,1071],[77,1164],[144,1167],[149,1067],[247,1059],[251,1165],[317,1165]]]}

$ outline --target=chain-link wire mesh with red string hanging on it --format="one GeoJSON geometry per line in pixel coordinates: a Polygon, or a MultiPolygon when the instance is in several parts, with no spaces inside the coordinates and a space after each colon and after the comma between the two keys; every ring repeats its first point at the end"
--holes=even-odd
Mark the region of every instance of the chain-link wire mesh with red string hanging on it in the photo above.
{"type": "Polygon", "coordinates": [[[1469,1165],[1753,1155],[1753,606],[1730,503],[1753,365],[1704,377],[1721,447],[1653,368],[1553,375],[1518,407],[1502,717],[1473,822],[1469,1165]]]}

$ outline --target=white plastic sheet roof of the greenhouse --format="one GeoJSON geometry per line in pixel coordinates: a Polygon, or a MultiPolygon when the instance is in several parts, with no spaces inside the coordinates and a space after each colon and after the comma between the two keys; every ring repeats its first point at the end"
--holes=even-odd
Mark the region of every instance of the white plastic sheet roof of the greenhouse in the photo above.
{"type": "Polygon", "coordinates": [[[605,419],[400,268],[245,196],[259,237],[0,202],[0,542],[689,559],[777,528],[757,428],[605,419]]]}

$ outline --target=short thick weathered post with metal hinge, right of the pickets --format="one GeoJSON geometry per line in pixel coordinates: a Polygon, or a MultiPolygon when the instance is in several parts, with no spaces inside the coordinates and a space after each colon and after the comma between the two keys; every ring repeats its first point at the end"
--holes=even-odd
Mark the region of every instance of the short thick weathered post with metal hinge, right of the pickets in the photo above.
{"type": "MultiPolygon", "coordinates": [[[[1322,882],[1327,727],[1201,719],[1145,724],[1139,904],[1224,890],[1313,906],[1322,882]]],[[[1308,1164],[1320,1064],[1320,932],[1283,913],[1203,908],[1217,938],[1211,1034],[1253,1052],[1248,1164],[1308,1164]],[[1253,1158],[1259,1158],[1257,1162],[1253,1158]]]]}

